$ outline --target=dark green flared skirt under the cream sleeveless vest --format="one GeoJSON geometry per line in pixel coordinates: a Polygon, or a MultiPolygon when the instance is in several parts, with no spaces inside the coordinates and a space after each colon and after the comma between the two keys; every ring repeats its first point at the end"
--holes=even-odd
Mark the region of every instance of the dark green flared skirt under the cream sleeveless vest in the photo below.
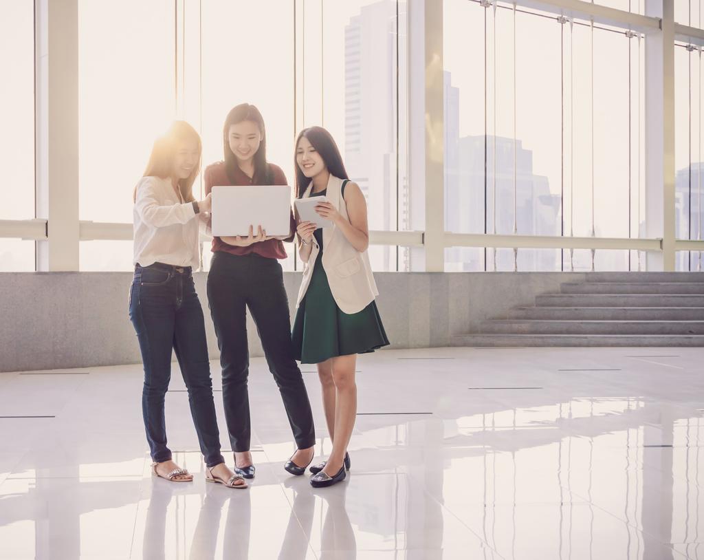
{"type": "Polygon", "coordinates": [[[294,356],[301,363],[365,354],[389,344],[375,301],[359,313],[340,311],[330,292],[327,274],[320,266],[320,256],[296,311],[291,339],[294,356]]]}

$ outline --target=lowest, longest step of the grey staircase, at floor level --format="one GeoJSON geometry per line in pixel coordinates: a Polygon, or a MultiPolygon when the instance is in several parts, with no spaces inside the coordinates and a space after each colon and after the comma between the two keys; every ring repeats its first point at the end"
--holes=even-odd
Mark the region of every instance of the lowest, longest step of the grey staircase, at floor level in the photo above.
{"type": "Polygon", "coordinates": [[[464,347],[703,347],[704,335],[455,335],[464,347]]]}

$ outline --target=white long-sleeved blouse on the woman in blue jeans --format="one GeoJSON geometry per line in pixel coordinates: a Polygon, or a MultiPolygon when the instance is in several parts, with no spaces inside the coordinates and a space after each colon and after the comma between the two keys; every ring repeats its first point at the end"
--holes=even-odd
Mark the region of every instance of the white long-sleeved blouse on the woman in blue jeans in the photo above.
{"type": "MultiPolygon", "coordinates": [[[[143,177],[137,183],[133,264],[199,267],[200,226],[207,214],[196,213],[192,202],[183,202],[171,180],[143,177]]],[[[205,224],[203,224],[204,226],[205,224]]]]}

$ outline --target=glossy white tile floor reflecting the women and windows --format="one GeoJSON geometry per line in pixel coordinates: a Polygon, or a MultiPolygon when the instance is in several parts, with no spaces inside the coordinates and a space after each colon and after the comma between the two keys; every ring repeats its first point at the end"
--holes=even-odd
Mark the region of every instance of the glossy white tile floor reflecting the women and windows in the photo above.
{"type": "Polygon", "coordinates": [[[282,468],[292,444],[263,359],[246,491],[204,482],[177,366],[167,425],[187,484],[151,478],[141,366],[0,374],[0,558],[704,559],[703,362],[691,348],[361,356],[351,475],[321,490],[282,468]]]}

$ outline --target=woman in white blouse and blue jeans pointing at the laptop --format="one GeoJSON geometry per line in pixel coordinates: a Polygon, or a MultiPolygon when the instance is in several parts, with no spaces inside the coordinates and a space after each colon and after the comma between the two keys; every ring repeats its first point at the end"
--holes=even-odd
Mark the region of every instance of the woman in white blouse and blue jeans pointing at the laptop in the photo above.
{"type": "Polygon", "coordinates": [[[199,264],[199,225],[205,225],[210,195],[192,193],[201,165],[201,139],[184,121],[176,121],[154,142],[144,177],[134,188],[134,280],[130,320],[144,362],[142,412],[151,451],[152,473],[172,482],[193,475],[172,461],[166,444],[164,399],[175,351],[188,389],[191,416],[208,482],[246,488],[220,454],[213,384],[203,310],[192,271],[199,264]]]}

